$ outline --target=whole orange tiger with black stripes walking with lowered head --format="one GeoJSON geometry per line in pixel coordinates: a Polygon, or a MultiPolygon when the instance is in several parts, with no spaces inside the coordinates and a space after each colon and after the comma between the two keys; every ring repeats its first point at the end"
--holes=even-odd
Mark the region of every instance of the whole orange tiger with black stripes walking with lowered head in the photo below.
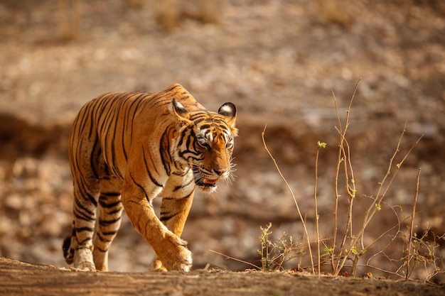
{"type": "Polygon", "coordinates": [[[195,187],[212,193],[233,178],[236,117],[235,104],[208,111],[177,83],[158,93],[107,93],[82,106],[69,136],[74,199],[65,261],[107,271],[125,210],[156,253],[152,270],[191,270],[181,234],[195,187]]]}

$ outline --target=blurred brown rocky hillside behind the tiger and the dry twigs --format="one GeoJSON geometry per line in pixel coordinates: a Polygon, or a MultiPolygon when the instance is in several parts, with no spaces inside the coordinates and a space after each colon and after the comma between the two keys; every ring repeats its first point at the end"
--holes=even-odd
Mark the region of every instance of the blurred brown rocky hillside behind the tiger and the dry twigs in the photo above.
{"type": "MultiPolygon", "coordinates": [[[[444,234],[444,1],[1,0],[0,40],[0,256],[66,266],[61,246],[73,202],[68,133],[77,111],[104,92],[158,92],[173,82],[209,110],[224,102],[239,110],[237,178],[215,194],[197,194],[183,234],[194,268],[251,268],[210,250],[259,265],[259,226],[269,222],[274,237],[286,231],[304,242],[294,200],[262,143],[266,125],[267,146],[312,241],[317,141],[327,143],[318,160],[318,214],[321,237],[332,237],[339,143],[333,94],[344,120],[360,78],[348,126],[358,190],[354,229],[406,122],[395,163],[425,136],[402,165],[365,244],[411,214],[419,168],[415,231],[444,234]]],[[[372,252],[382,253],[360,259],[360,273],[377,273],[371,265],[396,270],[390,258],[404,256],[404,231],[385,236],[397,236],[391,245],[376,243],[372,252]]],[[[436,256],[444,256],[443,242],[436,256]]],[[[153,256],[124,218],[110,270],[144,271],[153,256]]]]}

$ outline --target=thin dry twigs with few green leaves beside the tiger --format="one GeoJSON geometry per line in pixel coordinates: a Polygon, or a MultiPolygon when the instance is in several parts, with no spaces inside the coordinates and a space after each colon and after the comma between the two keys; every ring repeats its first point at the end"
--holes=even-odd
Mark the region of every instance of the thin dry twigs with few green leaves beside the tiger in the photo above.
{"type": "Polygon", "coordinates": [[[408,158],[409,154],[412,153],[412,150],[417,146],[419,141],[422,139],[423,135],[417,138],[411,148],[407,150],[407,153],[400,157],[399,153],[402,148],[402,139],[406,132],[406,123],[404,124],[404,128],[400,137],[398,138],[396,148],[390,161],[388,163],[388,168],[386,174],[382,177],[382,180],[378,182],[377,185],[377,194],[375,196],[365,196],[368,197],[370,201],[368,203],[368,207],[365,209],[354,207],[355,199],[357,198],[357,190],[355,187],[355,177],[353,170],[353,163],[351,160],[351,154],[353,153],[350,150],[350,146],[348,144],[347,139],[347,131],[348,126],[350,126],[350,111],[353,104],[353,100],[355,98],[355,93],[358,89],[358,85],[360,84],[360,80],[358,80],[355,85],[355,89],[353,91],[352,97],[350,98],[350,102],[348,105],[348,109],[346,110],[345,121],[341,122],[341,116],[338,113],[338,105],[335,94],[333,94],[334,104],[336,106],[336,116],[338,119],[338,126],[336,130],[338,131],[339,141],[338,141],[338,158],[336,163],[336,175],[334,180],[334,192],[335,198],[333,199],[333,233],[330,239],[321,240],[320,237],[320,227],[323,228],[325,226],[328,228],[328,225],[319,225],[319,215],[318,215],[318,206],[317,206],[317,183],[318,183],[318,155],[320,153],[321,148],[326,147],[326,143],[321,143],[318,141],[318,147],[316,150],[316,167],[315,167],[315,182],[314,182],[314,190],[313,190],[313,200],[314,200],[314,216],[316,223],[316,234],[310,234],[307,230],[305,219],[303,218],[303,214],[299,207],[298,201],[294,193],[289,186],[289,183],[286,181],[286,178],[282,175],[279,166],[277,165],[277,161],[274,156],[267,148],[266,141],[264,140],[264,135],[266,128],[262,133],[262,140],[264,144],[264,148],[269,153],[270,158],[274,162],[277,171],[279,172],[280,177],[286,184],[286,187],[289,189],[291,197],[294,199],[294,203],[299,213],[299,217],[301,219],[301,224],[304,229],[304,238],[306,239],[306,243],[300,243],[291,245],[288,248],[279,248],[278,246],[285,246],[285,243],[282,242],[282,239],[279,239],[276,242],[272,242],[269,239],[270,234],[272,234],[271,225],[266,228],[261,228],[262,236],[260,236],[260,242],[262,249],[259,250],[259,254],[262,256],[262,270],[270,270],[270,269],[279,269],[282,268],[282,261],[276,262],[278,259],[282,260],[283,257],[290,258],[300,258],[304,256],[304,254],[309,253],[309,261],[310,265],[306,268],[306,270],[311,270],[311,273],[321,275],[321,266],[328,265],[330,268],[330,275],[341,275],[341,274],[351,274],[357,275],[358,268],[368,268],[370,270],[379,270],[382,273],[387,275],[394,275],[396,278],[403,278],[404,280],[409,280],[413,278],[414,271],[422,265],[424,268],[424,278],[422,280],[428,281],[437,273],[442,273],[441,266],[443,263],[441,262],[440,254],[438,252],[438,244],[436,240],[443,239],[444,235],[436,236],[434,235],[434,241],[431,243],[426,240],[429,232],[424,231],[424,235],[420,238],[416,236],[414,233],[414,219],[416,216],[416,205],[417,205],[417,197],[419,193],[419,177],[421,169],[419,168],[416,178],[416,190],[414,193],[414,197],[412,199],[412,211],[410,216],[402,216],[400,218],[398,216],[397,208],[399,206],[391,206],[385,201],[385,197],[387,196],[388,190],[397,176],[397,173],[401,170],[403,163],[408,158]],[[398,161],[397,161],[398,160],[398,161]],[[343,184],[343,185],[342,185],[343,184]],[[345,221],[345,224],[341,225],[338,219],[338,213],[340,211],[340,199],[341,187],[344,187],[343,190],[347,192],[348,195],[348,205],[346,212],[348,213],[348,218],[345,221]],[[382,209],[382,204],[385,204],[392,209],[397,216],[397,224],[390,226],[389,229],[382,229],[382,233],[377,237],[372,243],[368,246],[365,245],[365,236],[367,235],[368,229],[372,226],[372,220],[378,216],[380,210],[382,209]],[[361,212],[360,212],[361,211],[361,212]],[[364,211],[364,212],[363,212],[364,211]],[[353,226],[353,216],[363,216],[363,221],[361,225],[357,227],[353,226]],[[406,226],[408,229],[408,234],[404,233],[402,229],[404,229],[404,224],[409,221],[409,226],[406,226]],[[395,234],[394,234],[395,231],[395,234]],[[375,250],[377,245],[377,241],[388,239],[390,236],[389,242],[385,245],[385,248],[380,250],[375,250]],[[321,245],[323,244],[323,252],[321,250],[321,245]],[[298,246],[297,246],[298,245],[298,246]],[[315,245],[316,252],[313,255],[313,245],[315,245]],[[282,256],[277,255],[277,253],[271,252],[269,248],[272,248],[277,251],[277,249],[282,251],[282,256]],[[397,248],[399,250],[398,259],[393,258],[393,256],[387,256],[385,253],[385,249],[392,246],[392,248],[397,248]],[[296,251],[297,250],[297,251],[296,251]],[[296,251],[295,253],[293,253],[296,251]],[[374,253],[370,253],[374,252],[374,253]],[[293,255],[289,255],[289,254],[293,255]],[[360,259],[363,255],[367,253],[369,256],[368,261],[365,263],[361,263],[360,259]],[[392,270],[379,268],[378,266],[374,266],[371,264],[372,258],[385,258],[387,261],[390,261],[393,266],[392,270]],[[422,264],[419,264],[422,263],[422,264]],[[346,271],[347,270],[347,271],[346,271]]]}

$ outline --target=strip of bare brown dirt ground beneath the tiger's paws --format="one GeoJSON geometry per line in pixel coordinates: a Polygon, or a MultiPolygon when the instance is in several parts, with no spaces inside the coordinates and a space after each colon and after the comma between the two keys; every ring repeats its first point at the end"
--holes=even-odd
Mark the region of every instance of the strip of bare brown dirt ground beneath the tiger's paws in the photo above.
{"type": "Polygon", "coordinates": [[[84,273],[0,258],[2,295],[368,295],[441,296],[444,287],[292,272],[84,273]],[[79,283],[82,283],[79,285],[79,283]]]}

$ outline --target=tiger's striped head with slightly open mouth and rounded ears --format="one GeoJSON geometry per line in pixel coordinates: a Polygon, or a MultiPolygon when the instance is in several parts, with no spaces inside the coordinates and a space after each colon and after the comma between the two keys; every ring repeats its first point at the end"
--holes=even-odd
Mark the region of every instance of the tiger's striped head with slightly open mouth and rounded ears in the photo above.
{"type": "Polygon", "coordinates": [[[178,137],[173,157],[191,168],[195,185],[203,192],[214,192],[220,180],[230,177],[234,165],[232,151],[237,136],[237,109],[232,103],[220,106],[218,113],[188,111],[173,99],[171,111],[176,118],[178,137]]]}

